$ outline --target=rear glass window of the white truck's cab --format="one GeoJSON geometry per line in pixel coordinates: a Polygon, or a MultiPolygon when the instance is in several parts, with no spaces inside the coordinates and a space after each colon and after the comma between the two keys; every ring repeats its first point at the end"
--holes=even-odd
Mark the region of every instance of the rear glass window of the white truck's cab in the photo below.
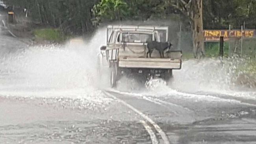
{"type": "Polygon", "coordinates": [[[122,42],[147,42],[152,41],[152,34],[148,33],[122,33],[122,42]]]}

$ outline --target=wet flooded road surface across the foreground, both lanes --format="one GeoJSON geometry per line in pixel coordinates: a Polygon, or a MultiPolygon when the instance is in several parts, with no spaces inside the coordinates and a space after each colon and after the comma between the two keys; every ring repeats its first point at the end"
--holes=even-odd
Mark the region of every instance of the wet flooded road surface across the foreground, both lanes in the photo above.
{"type": "Polygon", "coordinates": [[[255,100],[182,92],[157,97],[102,93],[109,103],[93,109],[79,99],[1,97],[0,143],[256,142],[255,100]]]}

